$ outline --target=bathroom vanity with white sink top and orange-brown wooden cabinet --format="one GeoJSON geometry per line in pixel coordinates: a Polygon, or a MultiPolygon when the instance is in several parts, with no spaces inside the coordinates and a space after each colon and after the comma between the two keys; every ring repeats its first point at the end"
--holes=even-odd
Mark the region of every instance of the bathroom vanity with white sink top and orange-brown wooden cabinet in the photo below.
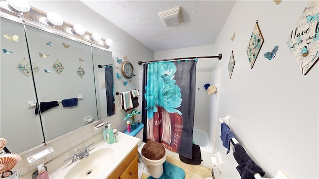
{"type": "MultiPolygon", "coordinates": [[[[93,137],[94,138],[94,137],[93,137]]],[[[92,140],[93,140],[92,138],[92,140]]],[[[91,142],[87,140],[84,144],[91,142]]],[[[108,144],[99,136],[99,141],[90,147],[87,158],[72,163],[64,160],[73,155],[74,149],[45,164],[50,179],[137,179],[138,147],[140,139],[119,132],[118,142],[108,144]]],[[[82,144],[80,144],[81,146],[82,144]]],[[[30,178],[31,174],[23,176],[30,178]]]]}

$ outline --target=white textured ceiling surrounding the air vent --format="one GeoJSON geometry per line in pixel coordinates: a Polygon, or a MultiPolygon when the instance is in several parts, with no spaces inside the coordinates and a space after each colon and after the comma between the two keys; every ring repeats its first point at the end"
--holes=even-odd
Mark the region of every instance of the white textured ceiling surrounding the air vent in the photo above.
{"type": "Polygon", "coordinates": [[[214,44],[236,0],[81,0],[153,51],[214,44]],[[181,6],[184,22],[165,27],[159,12],[181,6]]]}

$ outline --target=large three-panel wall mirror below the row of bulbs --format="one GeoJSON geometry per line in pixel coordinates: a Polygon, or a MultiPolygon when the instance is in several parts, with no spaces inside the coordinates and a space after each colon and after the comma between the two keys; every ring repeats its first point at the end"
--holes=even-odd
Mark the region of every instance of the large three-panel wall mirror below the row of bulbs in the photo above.
{"type": "Polygon", "coordinates": [[[115,114],[110,51],[45,25],[0,21],[0,136],[10,152],[115,114]]]}

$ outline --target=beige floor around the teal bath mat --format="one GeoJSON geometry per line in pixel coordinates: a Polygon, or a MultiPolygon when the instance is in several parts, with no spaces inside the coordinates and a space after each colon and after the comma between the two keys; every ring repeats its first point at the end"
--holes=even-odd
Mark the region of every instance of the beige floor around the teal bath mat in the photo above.
{"type": "MultiPolygon", "coordinates": [[[[182,168],[185,171],[185,179],[206,179],[212,178],[211,169],[200,165],[190,165],[185,164],[179,160],[179,158],[175,158],[167,155],[167,162],[182,168]]],[[[141,179],[147,179],[149,176],[144,174],[141,179]]]]}

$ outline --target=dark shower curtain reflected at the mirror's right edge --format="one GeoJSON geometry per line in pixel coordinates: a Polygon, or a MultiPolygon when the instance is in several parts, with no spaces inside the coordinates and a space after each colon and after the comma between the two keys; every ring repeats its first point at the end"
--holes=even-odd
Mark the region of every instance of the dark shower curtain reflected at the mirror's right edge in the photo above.
{"type": "Polygon", "coordinates": [[[106,106],[108,116],[115,114],[115,97],[114,97],[114,82],[113,82],[113,67],[104,67],[105,71],[105,91],[106,91],[106,106]],[[110,88],[111,87],[111,88],[110,88]]]}

